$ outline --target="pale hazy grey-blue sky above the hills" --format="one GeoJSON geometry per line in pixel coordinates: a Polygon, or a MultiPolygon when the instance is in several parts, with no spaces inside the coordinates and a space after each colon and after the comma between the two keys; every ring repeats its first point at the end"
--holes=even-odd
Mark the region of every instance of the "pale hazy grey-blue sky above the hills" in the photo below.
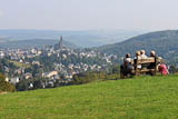
{"type": "Polygon", "coordinates": [[[171,30],[178,0],[0,0],[0,29],[171,30]]]}

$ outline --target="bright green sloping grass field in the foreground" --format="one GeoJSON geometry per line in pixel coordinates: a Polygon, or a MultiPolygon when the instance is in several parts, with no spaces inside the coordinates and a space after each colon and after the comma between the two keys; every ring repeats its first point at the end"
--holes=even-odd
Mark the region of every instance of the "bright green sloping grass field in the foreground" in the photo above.
{"type": "Polygon", "coordinates": [[[177,119],[178,76],[0,95],[0,119],[177,119]]]}

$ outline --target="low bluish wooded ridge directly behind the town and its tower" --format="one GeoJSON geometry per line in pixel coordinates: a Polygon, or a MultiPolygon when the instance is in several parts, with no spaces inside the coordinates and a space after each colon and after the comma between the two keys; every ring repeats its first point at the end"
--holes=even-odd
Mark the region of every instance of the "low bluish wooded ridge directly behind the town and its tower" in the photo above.
{"type": "MultiPolygon", "coordinates": [[[[55,39],[29,39],[29,40],[0,40],[0,48],[42,48],[44,46],[53,46],[59,42],[55,39]]],[[[63,41],[68,48],[77,48],[73,43],[63,41]]]]}

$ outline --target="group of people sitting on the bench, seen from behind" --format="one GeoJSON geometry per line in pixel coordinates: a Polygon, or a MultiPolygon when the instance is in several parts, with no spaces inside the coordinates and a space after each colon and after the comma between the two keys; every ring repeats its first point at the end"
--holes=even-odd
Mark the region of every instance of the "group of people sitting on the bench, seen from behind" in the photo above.
{"type": "MultiPolygon", "coordinates": [[[[154,58],[157,58],[156,57],[156,52],[155,51],[151,51],[150,52],[150,56],[148,57],[146,54],[146,51],[145,50],[140,50],[140,51],[136,51],[136,57],[134,59],[131,59],[130,57],[130,53],[127,53],[126,54],[126,58],[123,59],[123,65],[121,66],[121,69],[125,69],[125,73],[131,73],[131,70],[134,69],[134,66],[132,66],[132,60],[135,59],[147,59],[147,58],[150,58],[150,57],[154,57],[154,58]]],[[[160,58],[160,57],[159,57],[160,58]]],[[[152,63],[149,63],[149,65],[138,65],[137,68],[138,69],[142,69],[142,68],[148,68],[148,69],[152,69],[156,67],[156,63],[152,62],[152,63]]],[[[166,65],[164,65],[162,62],[159,62],[158,65],[158,69],[159,71],[161,72],[161,75],[167,75],[168,73],[168,70],[167,70],[167,67],[166,65]]]]}

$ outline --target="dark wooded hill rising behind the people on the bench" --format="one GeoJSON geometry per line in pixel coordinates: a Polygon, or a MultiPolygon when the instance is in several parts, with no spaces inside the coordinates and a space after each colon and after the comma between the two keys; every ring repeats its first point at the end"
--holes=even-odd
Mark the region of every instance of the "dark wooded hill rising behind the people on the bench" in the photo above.
{"type": "Polygon", "coordinates": [[[130,38],[126,41],[98,48],[102,52],[116,53],[123,57],[126,53],[135,54],[135,51],[145,49],[146,52],[155,50],[158,56],[167,60],[178,56],[178,30],[150,32],[130,38]]]}

